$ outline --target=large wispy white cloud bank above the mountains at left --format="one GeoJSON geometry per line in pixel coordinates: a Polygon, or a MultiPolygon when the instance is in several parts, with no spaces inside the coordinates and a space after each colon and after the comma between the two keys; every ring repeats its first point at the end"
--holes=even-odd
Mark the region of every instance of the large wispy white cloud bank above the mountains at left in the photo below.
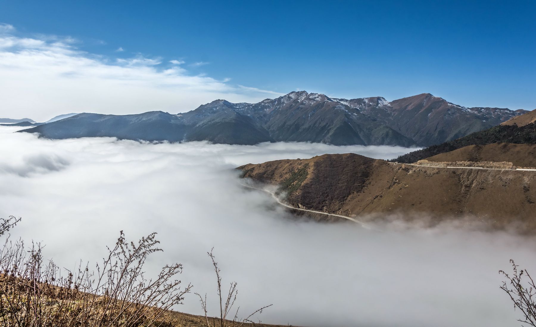
{"type": "Polygon", "coordinates": [[[281,95],[191,74],[182,60],[170,60],[169,66],[142,54],[111,58],[80,50],[72,37],[18,34],[12,25],[0,25],[0,88],[9,95],[0,98],[0,117],[44,121],[72,111],[176,113],[217,98],[257,102],[281,95]]]}

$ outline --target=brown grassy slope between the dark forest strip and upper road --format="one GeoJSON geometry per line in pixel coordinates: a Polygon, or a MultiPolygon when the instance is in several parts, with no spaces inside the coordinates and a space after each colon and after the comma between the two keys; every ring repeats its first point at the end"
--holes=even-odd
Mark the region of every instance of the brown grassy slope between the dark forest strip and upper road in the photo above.
{"type": "Polygon", "coordinates": [[[428,161],[452,162],[452,161],[495,161],[511,162],[519,167],[536,167],[536,145],[493,143],[485,146],[467,146],[454,151],[438,154],[429,158],[428,161]]]}

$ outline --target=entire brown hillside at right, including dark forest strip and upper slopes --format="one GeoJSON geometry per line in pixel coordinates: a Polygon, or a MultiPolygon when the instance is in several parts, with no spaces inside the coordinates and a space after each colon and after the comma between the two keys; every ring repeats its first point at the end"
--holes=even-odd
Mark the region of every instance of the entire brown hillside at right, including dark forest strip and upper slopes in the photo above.
{"type": "Polygon", "coordinates": [[[294,208],[361,221],[450,220],[536,232],[536,110],[391,162],[326,154],[238,169],[242,177],[277,185],[294,208]]]}

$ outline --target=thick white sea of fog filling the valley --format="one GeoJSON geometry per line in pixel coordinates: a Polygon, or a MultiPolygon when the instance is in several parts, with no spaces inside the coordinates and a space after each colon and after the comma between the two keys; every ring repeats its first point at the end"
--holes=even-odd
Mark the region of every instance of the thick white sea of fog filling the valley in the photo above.
{"type": "MultiPolygon", "coordinates": [[[[46,244],[66,268],[94,262],[120,230],[158,232],[149,263],[184,265],[217,315],[214,247],[224,284],[239,283],[249,314],[273,303],[265,323],[307,326],[513,326],[499,269],[533,264],[534,245],[506,233],[364,230],[351,222],[293,219],[270,195],[243,189],[238,165],[324,153],[393,158],[410,149],[309,143],[258,146],[142,144],[111,138],[41,140],[0,127],[0,217],[20,216],[14,237],[46,244]]],[[[531,268],[532,266],[528,266],[531,268]]],[[[201,314],[190,294],[176,308],[201,314]]]]}

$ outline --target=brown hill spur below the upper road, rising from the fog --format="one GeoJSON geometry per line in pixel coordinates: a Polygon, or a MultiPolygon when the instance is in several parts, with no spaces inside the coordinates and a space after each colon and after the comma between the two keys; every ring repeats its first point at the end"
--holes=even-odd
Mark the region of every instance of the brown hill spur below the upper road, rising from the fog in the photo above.
{"type": "Polygon", "coordinates": [[[279,185],[294,207],[360,220],[392,214],[432,224],[455,220],[536,231],[534,171],[413,166],[356,154],[247,164],[238,169],[243,177],[279,185]]]}

